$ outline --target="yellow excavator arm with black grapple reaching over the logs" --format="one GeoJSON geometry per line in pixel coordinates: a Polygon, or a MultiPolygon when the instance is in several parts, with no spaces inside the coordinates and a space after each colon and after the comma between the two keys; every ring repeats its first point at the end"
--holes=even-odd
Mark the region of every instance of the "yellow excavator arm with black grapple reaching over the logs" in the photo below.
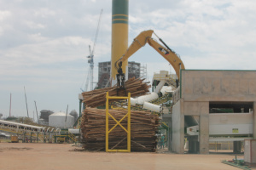
{"type": "Polygon", "coordinates": [[[122,70],[122,63],[125,62],[132,54],[136,53],[138,49],[145,46],[148,43],[151,47],[153,47],[160,55],[162,55],[173,67],[177,74],[177,79],[179,80],[179,71],[181,69],[185,69],[183,65],[183,61],[177,56],[177,54],[169,48],[165,42],[163,42],[155,33],[154,35],[158,37],[160,42],[164,44],[165,47],[160,45],[160,43],[156,42],[152,38],[152,34],[154,33],[153,30],[143,31],[141,32],[131,43],[130,47],[127,48],[125,54],[115,62],[115,68],[118,71],[116,74],[117,77],[117,86],[119,88],[125,89],[125,74],[122,70]]]}

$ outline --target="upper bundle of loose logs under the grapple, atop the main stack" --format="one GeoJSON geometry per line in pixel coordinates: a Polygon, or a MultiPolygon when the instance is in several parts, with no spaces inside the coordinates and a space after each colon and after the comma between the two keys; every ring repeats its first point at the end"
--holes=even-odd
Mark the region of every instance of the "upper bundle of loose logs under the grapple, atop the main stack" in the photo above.
{"type": "MultiPolygon", "coordinates": [[[[109,96],[127,96],[128,93],[131,93],[131,97],[137,97],[147,94],[149,92],[148,88],[150,88],[148,82],[143,82],[142,79],[135,79],[133,77],[125,82],[125,90],[120,89],[118,91],[117,87],[113,86],[82,93],[84,98],[83,102],[86,106],[97,107],[106,104],[106,92],[108,92],[109,96]]],[[[119,99],[109,99],[109,103],[118,100],[119,99]]]]}

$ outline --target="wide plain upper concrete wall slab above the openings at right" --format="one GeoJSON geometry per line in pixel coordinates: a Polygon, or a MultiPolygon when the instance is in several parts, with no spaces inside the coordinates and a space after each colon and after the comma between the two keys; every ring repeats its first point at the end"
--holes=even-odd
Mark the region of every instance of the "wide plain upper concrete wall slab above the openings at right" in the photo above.
{"type": "Polygon", "coordinates": [[[189,71],[181,74],[184,101],[256,101],[256,71],[189,71]]]}

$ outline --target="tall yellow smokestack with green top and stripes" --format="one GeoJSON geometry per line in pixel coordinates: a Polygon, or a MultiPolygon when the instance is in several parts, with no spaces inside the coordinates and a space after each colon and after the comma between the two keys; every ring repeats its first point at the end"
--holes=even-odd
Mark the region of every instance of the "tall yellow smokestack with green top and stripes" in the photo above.
{"type": "MultiPolygon", "coordinates": [[[[128,48],[128,6],[129,0],[112,0],[112,48],[111,77],[112,86],[116,84],[117,70],[114,64],[128,48]]],[[[122,63],[125,79],[128,79],[128,60],[122,63]]]]}

